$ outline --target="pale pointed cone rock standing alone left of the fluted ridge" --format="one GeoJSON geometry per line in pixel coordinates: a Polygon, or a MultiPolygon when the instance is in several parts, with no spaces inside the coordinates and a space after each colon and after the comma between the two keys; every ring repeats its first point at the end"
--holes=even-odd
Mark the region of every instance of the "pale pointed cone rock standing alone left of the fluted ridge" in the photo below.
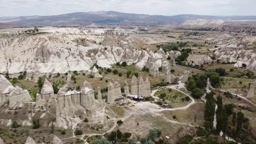
{"type": "Polygon", "coordinates": [[[51,85],[51,83],[47,79],[44,80],[44,85],[41,89],[41,95],[42,98],[46,100],[49,100],[50,97],[54,95],[53,85],[51,85]]]}

